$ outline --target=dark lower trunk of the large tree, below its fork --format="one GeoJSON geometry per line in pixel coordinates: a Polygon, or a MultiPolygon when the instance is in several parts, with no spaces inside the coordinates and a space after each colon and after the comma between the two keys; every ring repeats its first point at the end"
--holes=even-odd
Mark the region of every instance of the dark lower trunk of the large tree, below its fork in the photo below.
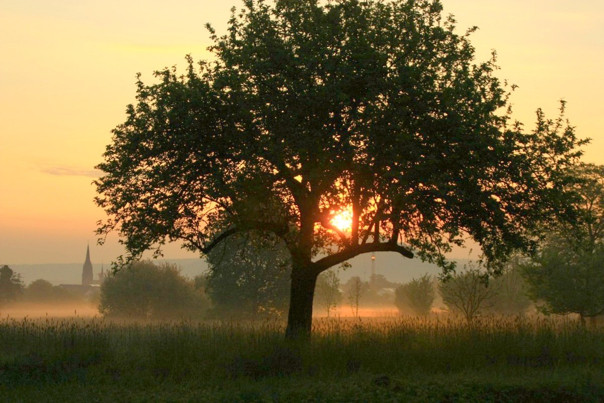
{"type": "Polygon", "coordinates": [[[285,330],[285,337],[290,340],[310,340],[316,277],[309,268],[292,268],[288,327],[285,330]]]}

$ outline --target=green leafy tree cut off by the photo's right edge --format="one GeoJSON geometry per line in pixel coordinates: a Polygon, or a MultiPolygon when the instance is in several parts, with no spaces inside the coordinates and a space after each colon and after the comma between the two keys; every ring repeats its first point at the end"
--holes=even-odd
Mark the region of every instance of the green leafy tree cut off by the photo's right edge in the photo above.
{"type": "Polygon", "coordinates": [[[547,237],[523,273],[530,296],[545,314],[604,313],[604,166],[580,164],[569,170],[576,181],[576,216],[545,228],[547,237]]]}

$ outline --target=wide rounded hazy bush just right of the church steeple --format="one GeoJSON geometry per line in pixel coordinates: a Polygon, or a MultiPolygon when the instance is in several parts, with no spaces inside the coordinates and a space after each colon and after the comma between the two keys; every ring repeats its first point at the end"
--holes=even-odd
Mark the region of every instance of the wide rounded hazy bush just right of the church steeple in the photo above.
{"type": "Polygon", "coordinates": [[[143,260],[106,277],[98,311],[107,316],[158,319],[200,316],[206,308],[193,281],[182,277],[175,265],[143,260]]]}

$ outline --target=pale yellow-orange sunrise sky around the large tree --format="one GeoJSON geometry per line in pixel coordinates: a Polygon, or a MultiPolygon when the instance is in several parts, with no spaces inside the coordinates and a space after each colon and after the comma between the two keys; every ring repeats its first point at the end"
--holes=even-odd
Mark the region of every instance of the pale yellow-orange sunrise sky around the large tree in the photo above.
{"type": "MultiPolygon", "coordinates": [[[[460,31],[471,25],[478,60],[496,49],[498,76],[519,85],[515,115],[555,117],[558,100],[585,160],[604,164],[604,2],[443,0],[460,31]]],[[[133,102],[135,74],[206,59],[205,22],[223,32],[239,0],[0,0],[0,263],[83,261],[121,253],[95,245],[92,167],[133,102]]],[[[168,247],[165,257],[193,257],[168,247]]],[[[461,252],[460,257],[466,257],[461,252]]]]}

